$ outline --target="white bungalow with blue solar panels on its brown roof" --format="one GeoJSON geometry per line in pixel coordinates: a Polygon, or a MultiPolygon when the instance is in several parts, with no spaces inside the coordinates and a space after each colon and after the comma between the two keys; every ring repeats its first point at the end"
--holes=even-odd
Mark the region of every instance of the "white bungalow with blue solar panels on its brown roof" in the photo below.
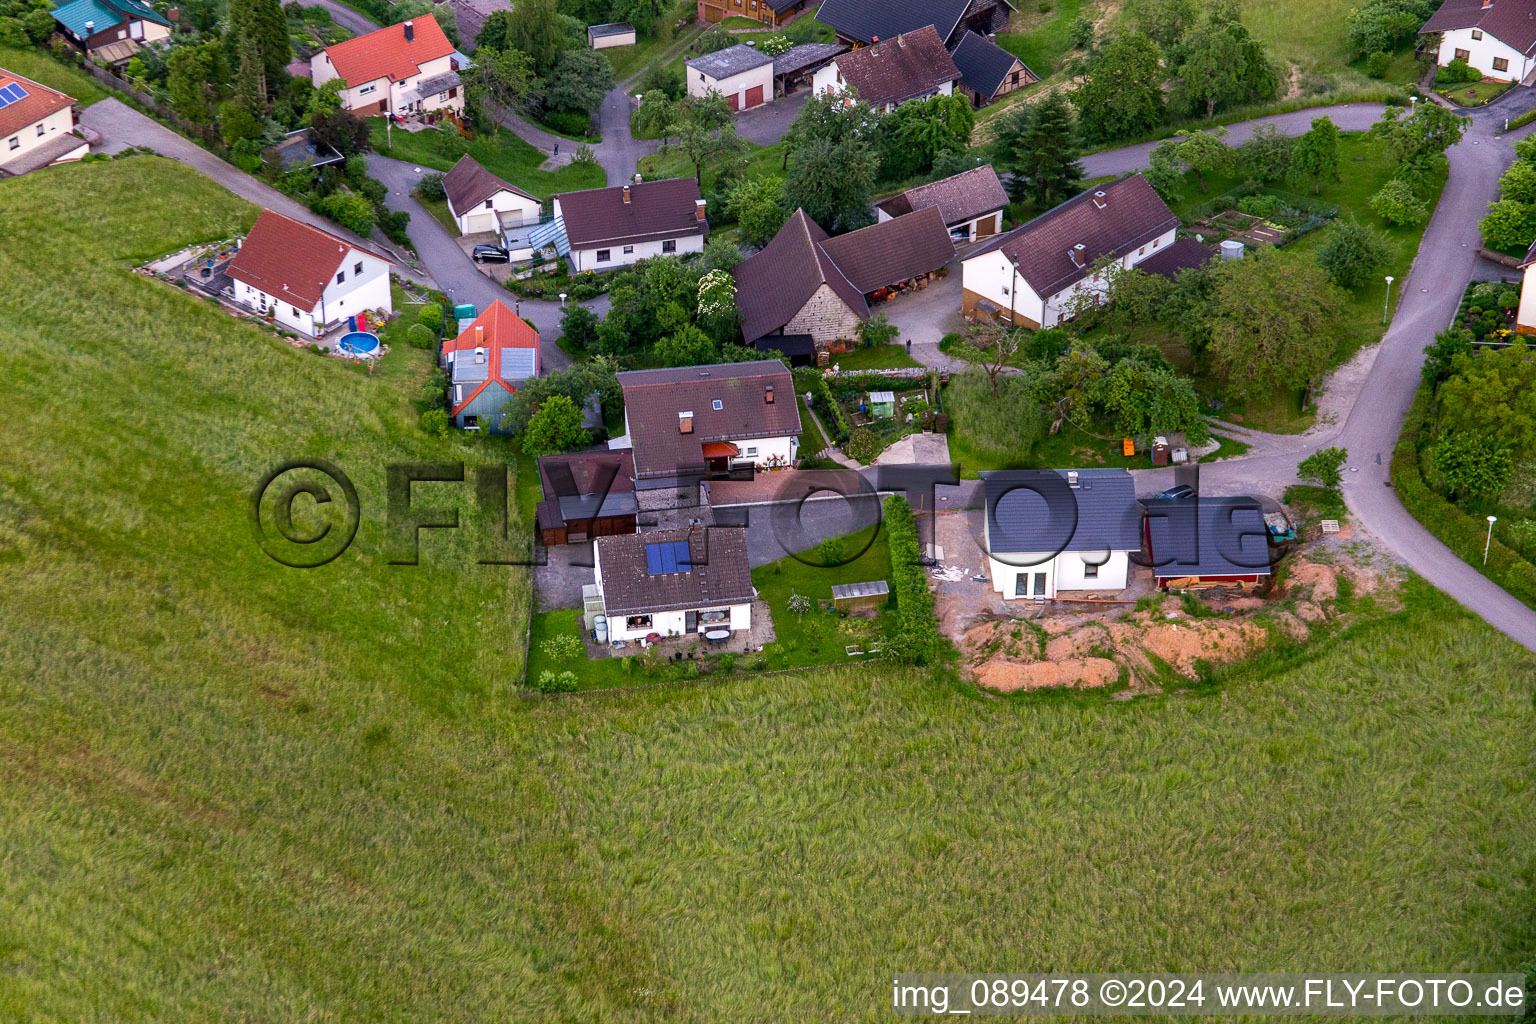
{"type": "Polygon", "coordinates": [[[593,577],[611,640],[753,626],[757,591],[742,528],[598,537],[593,577]]]}

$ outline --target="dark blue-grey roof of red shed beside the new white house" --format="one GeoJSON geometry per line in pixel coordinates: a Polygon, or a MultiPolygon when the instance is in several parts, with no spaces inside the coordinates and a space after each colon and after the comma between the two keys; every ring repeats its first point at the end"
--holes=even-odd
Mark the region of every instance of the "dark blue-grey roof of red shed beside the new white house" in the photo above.
{"type": "Polygon", "coordinates": [[[1253,497],[1144,500],[1158,579],[1267,576],[1272,571],[1264,510],[1253,497]],[[1163,565],[1158,565],[1161,562],[1163,565]]]}

